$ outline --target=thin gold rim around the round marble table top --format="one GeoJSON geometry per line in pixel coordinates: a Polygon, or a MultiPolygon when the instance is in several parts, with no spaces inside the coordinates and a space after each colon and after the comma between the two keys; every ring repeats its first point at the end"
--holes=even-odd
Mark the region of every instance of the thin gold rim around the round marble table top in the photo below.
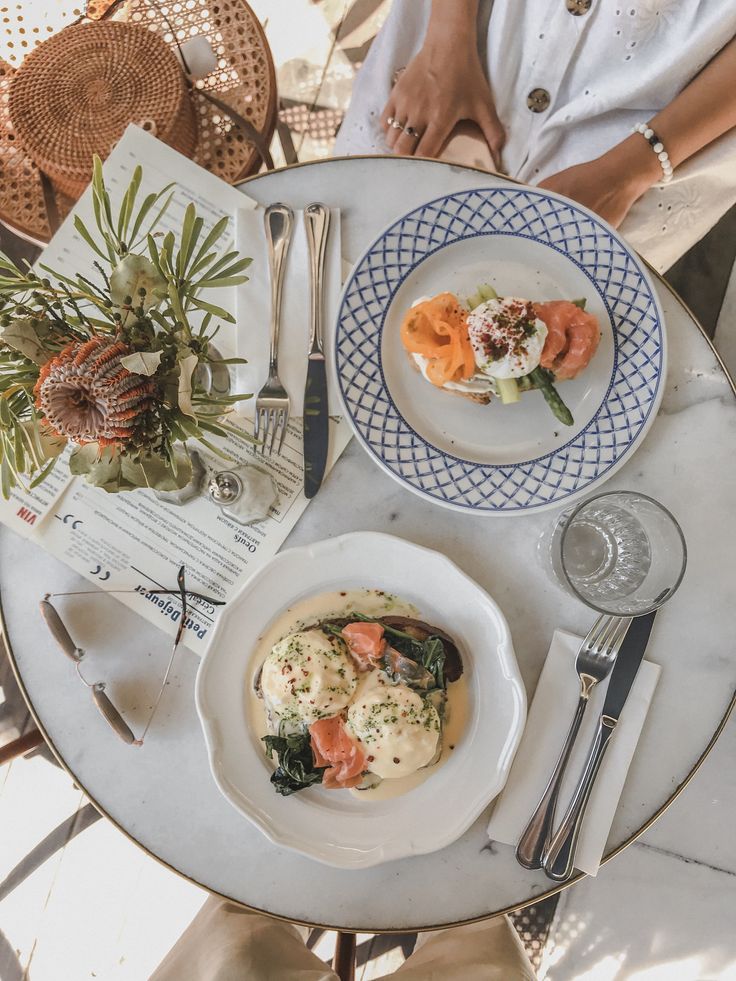
{"type": "MultiPolygon", "coordinates": [[[[299,169],[301,167],[319,166],[320,164],[334,163],[335,161],[345,161],[345,160],[375,160],[377,158],[378,159],[382,159],[382,160],[394,160],[394,161],[395,160],[421,160],[424,163],[439,164],[439,165],[445,166],[445,167],[453,167],[453,168],[458,168],[460,170],[467,170],[467,171],[470,171],[471,173],[483,174],[486,177],[490,173],[490,174],[492,174],[492,176],[501,178],[502,180],[506,180],[506,181],[508,181],[509,183],[512,183],[512,184],[520,184],[520,185],[523,185],[523,183],[524,183],[523,181],[517,181],[513,177],[508,177],[506,174],[494,174],[491,171],[483,170],[483,168],[481,168],[481,167],[473,167],[473,166],[469,166],[469,165],[465,165],[465,164],[449,163],[448,161],[435,160],[435,159],[433,159],[431,157],[399,157],[399,156],[395,156],[393,154],[356,154],[354,156],[324,157],[324,158],[321,158],[319,160],[305,160],[305,161],[302,161],[300,163],[287,164],[284,167],[277,167],[275,170],[270,170],[270,171],[267,171],[267,172],[262,173],[262,174],[254,174],[251,177],[247,177],[247,178],[245,178],[245,180],[238,182],[238,184],[236,186],[237,187],[242,187],[245,184],[250,184],[253,181],[261,180],[261,179],[263,179],[265,177],[270,176],[271,174],[282,173],[283,171],[287,171],[287,170],[297,170],[297,169],[299,169]]],[[[697,328],[697,330],[700,331],[703,339],[706,341],[706,343],[710,347],[711,353],[716,358],[716,361],[718,362],[721,370],[723,371],[724,375],[726,376],[726,380],[727,380],[727,382],[728,382],[728,384],[729,384],[729,386],[731,388],[731,392],[733,393],[734,397],[736,398],[736,380],[732,377],[732,375],[729,372],[728,368],[726,367],[723,359],[721,358],[720,354],[716,350],[716,348],[715,348],[715,346],[713,344],[713,341],[710,339],[710,337],[706,333],[705,328],[703,327],[703,325],[700,323],[700,321],[698,320],[698,318],[696,317],[696,315],[693,313],[693,311],[690,309],[690,307],[687,305],[687,303],[685,303],[685,301],[682,299],[682,297],[679,295],[679,293],[672,286],[670,286],[670,284],[667,282],[667,280],[650,263],[648,263],[646,261],[646,259],[643,259],[641,256],[639,256],[639,258],[644,263],[644,265],[647,267],[647,269],[649,270],[650,274],[652,276],[654,276],[659,281],[659,283],[661,285],[665,286],[667,288],[667,290],[669,290],[669,292],[672,294],[672,296],[677,300],[677,302],[687,312],[687,314],[690,317],[690,319],[692,320],[693,324],[695,325],[695,327],[697,328]]],[[[48,732],[46,731],[46,728],[44,727],[43,722],[41,721],[41,719],[40,719],[40,717],[39,717],[39,715],[38,715],[38,713],[36,711],[36,708],[35,708],[35,706],[33,704],[33,701],[31,699],[31,696],[30,696],[30,694],[29,694],[29,692],[28,692],[28,690],[27,690],[27,688],[26,688],[26,686],[25,686],[25,684],[23,682],[23,679],[22,679],[21,674],[20,674],[20,670],[19,670],[18,665],[17,665],[16,660],[15,660],[15,655],[13,653],[12,643],[11,643],[10,637],[8,635],[7,624],[6,624],[6,621],[5,621],[5,610],[3,608],[2,595],[1,594],[0,594],[0,640],[2,640],[2,642],[3,642],[4,646],[5,646],[5,650],[6,650],[7,654],[8,654],[8,660],[10,661],[10,666],[11,666],[11,669],[13,671],[13,675],[15,676],[15,680],[16,680],[16,682],[18,684],[18,687],[19,687],[19,689],[20,689],[20,691],[21,691],[21,693],[23,695],[23,698],[25,699],[26,704],[28,705],[28,710],[31,713],[31,716],[33,717],[33,720],[36,723],[39,731],[41,732],[41,735],[46,740],[46,744],[48,745],[49,749],[51,750],[51,752],[56,757],[56,760],[59,763],[59,765],[62,767],[62,769],[65,770],[66,773],[72,778],[72,780],[74,781],[74,783],[85,794],[85,796],[89,799],[90,803],[95,807],[95,809],[97,811],[99,811],[99,813],[102,814],[103,817],[107,818],[107,820],[110,821],[118,829],[118,831],[121,832],[121,834],[125,835],[125,837],[129,841],[133,842],[133,844],[137,845],[140,849],[142,849],[147,855],[149,855],[156,862],[158,862],[159,865],[163,865],[165,868],[169,869],[170,871],[175,872],[178,876],[181,876],[181,878],[185,879],[187,882],[190,882],[192,885],[198,886],[200,889],[204,889],[206,892],[210,893],[210,895],[219,896],[221,899],[224,899],[227,902],[233,903],[235,906],[238,906],[241,909],[248,910],[249,912],[252,912],[252,913],[260,913],[260,914],[262,914],[264,916],[269,916],[272,919],[283,920],[283,921],[288,922],[288,923],[296,923],[299,926],[306,926],[306,927],[318,928],[318,929],[322,929],[322,930],[336,930],[336,931],[338,931],[340,933],[356,933],[356,934],[357,933],[372,933],[372,934],[386,934],[386,935],[399,934],[399,933],[428,933],[428,932],[432,932],[432,931],[435,931],[435,930],[448,930],[448,929],[451,929],[452,927],[465,926],[465,925],[470,924],[470,923],[480,923],[483,920],[490,920],[490,919],[493,919],[493,917],[496,917],[496,916],[504,916],[504,915],[506,915],[508,913],[516,913],[519,910],[526,909],[528,906],[533,906],[534,904],[540,903],[540,902],[542,902],[545,899],[549,899],[551,896],[555,896],[558,893],[561,893],[563,890],[569,889],[570,886],[573,886],[573,885],[575,885],[575,883],[579,882],[581,879],[586,878],[585,873],[580,872],[580,873],[578,873],[578,875],[573,876],[573,878],[569,879],[567,882],[558,883],[558,884],[552,886],[550,889],[546,890],[545,892],[541,892],[541,893],[539,893],[537,895],[531,896],[529,899],[524,900],[521,903],[516,903],[516,904],[511,905],[511,906],[506,906],[503,909],[494,910],[493,912],[484,913],[481,916],[473,916],[473,917],[469,917],[469,918],[463,919],[463,920],[455,920],[455,921],[452,921],[452,922],[440,923],[440,924],[431,924],[431,925],[423,926],[423,927],[397,926],[397,927],[382,928],[380,930],[379,929],[376,929],[374,927],[367,927],[367,926],[355,926],[355,927],[353,927],[353,926],[351,926],[351,927],[339,926],[338,927],[338,926],[333,926],[332,924],[329,924],[329,923],[319,923],[319,922],[314,921],[314,920],[293,920],[293,919],[289,919],[286,916],[282,916],[279,913],[272,913],[270,910],[261,909],[258,906],[249,906],[246,903],[243,903],[243,902],[241,902],[238,899],[234,899],[232,896],[227,896],[224,893],[221,893],[221,892],[218,892],[217,890],[211,889],[209,886],[204,885],[204,883],[199,882],[193,876],[187,875],[186,872],[182,872],[180,869],[177,869],[174,865],[171,865],[169,862],[164,861],[164,859],[160,858],[155,852],[151,851],[150,848],[148,848],[146,845],[144,845],[142,842],[140,842],[137,838],[135,838],[129,831],[127,831],[127,829],[124,828],[120,824],[119,821],[117,821],[115,818],[113,818],[108,813],[108,811],[96,800],[96,798],[87,790],[87,788],[84,786],[84,784],[79,780],[79,778],[76,776],[76,774],[71,769],[71,767],[66,763],[66,761],[63,758],[63,756],[61,755],[61,753],[59,752],[59,750],[54,745],[54,742],[51,739],[51,737],[49,736],[48,732]]],[[[661,815],[664,814],[664,812],[673,803],[673,801],[675,801],[680,796],[680,794],[688,786],[688,784],[690,783],[690,781],[693,779],[693,777],[695,776],[695,774],[698,772],[698,770],[700,769],[700,767],[703,765],[703,763],[707,759],[707,757],[710,754],[711,750],[713,749],[713,747],[715,746],[716,742],[718,741],[718,737],[721,735],[721,733],[723,732],[724,728],[726,727],[726,724],[727,724],[727,722],[728,722],[728,720],[729,720],[732,712],[734,711],[734,708],[735,707],[736,707],[736,691],[734,691],[734,693],[733,693],[733,695],[731,697],[731,701],[729,702],[728,707],[726,708],[726,711],[724,712],[724,714],[723,714],[720,722],[716,726],[716,729],[715,729],[713,735],[711,736],[710,740],[708,741],[705,749],[703,750],[703,752],[701,753],[701,755],[698,757],[698,759],[695,761],[694,766],[689,771],[689,773],[687,774],[687,776],[685,777],[685,779],[682,781],[682,783],[679,784],[674,789],[674,791],[667,798],[667,800],[665,800],[665,802],[654,812],[654,814],[650,815],[650,817],[644,822],[644,824],[641,825],[641,827],[639,827],[628,838],[626,838],[624,841],[622,841],[620,845],[618,845],[616,848],[612,849],[610,852],[608,852],[606,855],[603,856],[603,858],[601,859],[601,865],[605,865],[611,859],[615,858],[617,855],[620,855],[621,852],[624,851],[624,849],[628,848],[629,845],[631,845],[639,837],[641,837],[641,835],[643,835],[645,831],[648,831],[649,828],[655,823],[655,821],[657,821],[658,818],[660,818],[661,815]]]]}

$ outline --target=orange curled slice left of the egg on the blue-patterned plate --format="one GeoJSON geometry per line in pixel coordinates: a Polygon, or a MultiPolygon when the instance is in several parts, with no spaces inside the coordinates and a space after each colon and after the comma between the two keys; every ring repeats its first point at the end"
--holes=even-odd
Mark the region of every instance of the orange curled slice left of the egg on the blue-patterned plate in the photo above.
{"type": "Polygon", "coordinates": [[[401,342],[410,354],[427,358],[427,377],[433,385],[475,374],[467,321],[468,311],[454,293],[417,303],[404,317],[401,342]]]}

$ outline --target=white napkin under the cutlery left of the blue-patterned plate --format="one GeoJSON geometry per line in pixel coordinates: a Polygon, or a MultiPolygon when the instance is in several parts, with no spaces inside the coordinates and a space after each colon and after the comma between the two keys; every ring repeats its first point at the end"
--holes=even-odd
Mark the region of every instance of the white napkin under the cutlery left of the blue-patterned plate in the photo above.
{"type": "MultiPolygon", "coordinates": [[[[253,418],[255,396],[268,375],[271,323],[271,280],[263,227],[263,208],[240,208],[235,216],[235,248],[252,256],[250,279],[237,287],[238,357],[248,364],[236,366],[238,391],[252,392],[253,398],[239,403],[238,412],[253,418]]],[[[330,415],[340,415],[337,378],[334,371],[333,341],[342,286],[340,211],[330,209],[324,277],[324,351],[327,361],[327,396],[330,415]]],[[[291,399],[291,415],[304,415],[304,386],[307,380],[309,350],[309,256],[304,214],[294,212],[291,247],[286,257],[279,339],[279,377],[291,399]]]]}

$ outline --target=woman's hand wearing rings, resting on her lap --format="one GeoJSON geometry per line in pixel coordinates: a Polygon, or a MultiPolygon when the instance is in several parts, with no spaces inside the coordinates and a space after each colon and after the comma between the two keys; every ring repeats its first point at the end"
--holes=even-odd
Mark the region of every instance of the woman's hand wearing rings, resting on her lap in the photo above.
{"type": "Polygon", "coordinates": [[[477,123],[500,168],[505,134],[474,39],[464,45],[447,37],[428,40],[399,76],[381,114],[386,142],[394,153],[436,157],[461,119],[477,123]],[[389,119],[414,133],[395,128],[389,119]]]}

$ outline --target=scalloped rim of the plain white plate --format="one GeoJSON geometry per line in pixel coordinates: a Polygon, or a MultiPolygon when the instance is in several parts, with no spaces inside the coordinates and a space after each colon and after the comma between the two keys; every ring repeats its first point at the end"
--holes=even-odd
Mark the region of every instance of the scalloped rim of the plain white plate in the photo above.
{"type": "MultiPolygon", "coordinates": [[[[236,606],[247,598],[248,593],[256,584],[257,580],[261,577],[261,574],[265,569],[271,569],[274,566],[288,562],[291,558],[293,558],[295,553],[301,553],[303,557],[313,560],[315,550],[318,556],[320,552],[329,554],[331,551],[334,552],[344,548],[346,544],[348,546],[355,544],[359,545],[360,540],[365,538],[370,538],[372,541],[382,540],[389,547],[396,547],[398,543],[398,547],[408,548],[410,551],[419,552],[422,555],[429,553],[435,561],[440,561],[449,566],[453,570],[454,574],[460,577],[466,587],[473,589],[476,593],[483,596],[485,601],[492,608],[494,617],[497,621],[497,626],[499,628],[497,648],[499,651],[500,665],[504,679],[507,683],[509,697],[513,707],[513,723],[507,736],[508,748],[505,751],[505,763],[503,766],[499,766],[496,773],[496,779],[492,787],[486,786],[485,789],[474,798],[472,805],[469,806],[466,811],[464,811],[465,816],[461,820],[454,823],[451,828],[446,830],[441,838],[438,838],[437,833],[434,833],[434,837],[431,842],[427,841],[426,843],[422,843],[421,841],[417,842],[416,840],[409,841],[407,839],[404,839],[402,843],[401,839],[396,838],[391,839],[388,842],[379,842],[370,849],[359,853],[356,853],[353,848],[348,848],[347,846],[339,847],[335,853],[334,845],[328,847],[325,842],[314,842],[309,839],[299,838],[297,834],[295,834],[293,831],[289,831],[288,828],[283,829],[281,826],[274,827],[274,825],[268,821],[268,815],[263,814],[257,805],[251,806],[250,809],[247,809],[247,807],[244,806],[247,804],[247,798],[244,798],[242,793],[235,788],[224,775],[219,755],[221,751],[221,741],[218,737],[217,725],[209,715],[210,707],[206,701],[205,691],[208,671],[211,669],[216,656],[217,643],[222,633],[224,633],[226,621],[229,619],[227,615],[220,617],[218,620],[213,632],[212,642],[197,669],[194,689],[195,706],[204,734],[210,772],[218,789],[227,802],[247,820],[249,820],[273,844],[297,852],[298,854],[314,859],[322,864],[330,865],[333,868],[341,868],[347,871],[358,871],[360,869],[381,865],[386,862],[397,861],[404,858],[410,858],[412,856],[430,854],[447,847],[458,838],[462,837],[462,835],[465,834],[468,828],[478,819],[488,805],[495,800],[503,790],[511,770],[516,750],[518,749],[521,741],[527,715],[526,689],[524,687],[524,682],[516,660],[511,631],[503,611],[501,610],[501,607],[497,601],[490,595],[490,593],[483,589],[479,583],[477,583],[471,576],[461,569],[457,563],[455,563],[443,552],[424,545],[418,545],[417,543],[406,538],[401,538],[398,535],[390,535],[385,532],[354,531],[346,532],[343,535],[338,535],[332,538],[320,539],[309,544],[294,546],[290,549],[284,549],[283,551],[278,552],[262,569],[254,572],[253,575],[246,580],[241,589],[238,591],[238,594],[232,600],[230,613],[232,614],[236,606]]],[[[319,592],[318,585],[316,585],[315,588],[315,593],[317,592],[319,592]]],[[[268,622],[271,622],[272,619],[273,616],[271,615],[268,622]]],[[[267,624],[264,624],[263,626],[266,625],[267,624]]],[[[474,715],[470,717],[469,725],[472,725],[474,718],[474,715]]]]}

